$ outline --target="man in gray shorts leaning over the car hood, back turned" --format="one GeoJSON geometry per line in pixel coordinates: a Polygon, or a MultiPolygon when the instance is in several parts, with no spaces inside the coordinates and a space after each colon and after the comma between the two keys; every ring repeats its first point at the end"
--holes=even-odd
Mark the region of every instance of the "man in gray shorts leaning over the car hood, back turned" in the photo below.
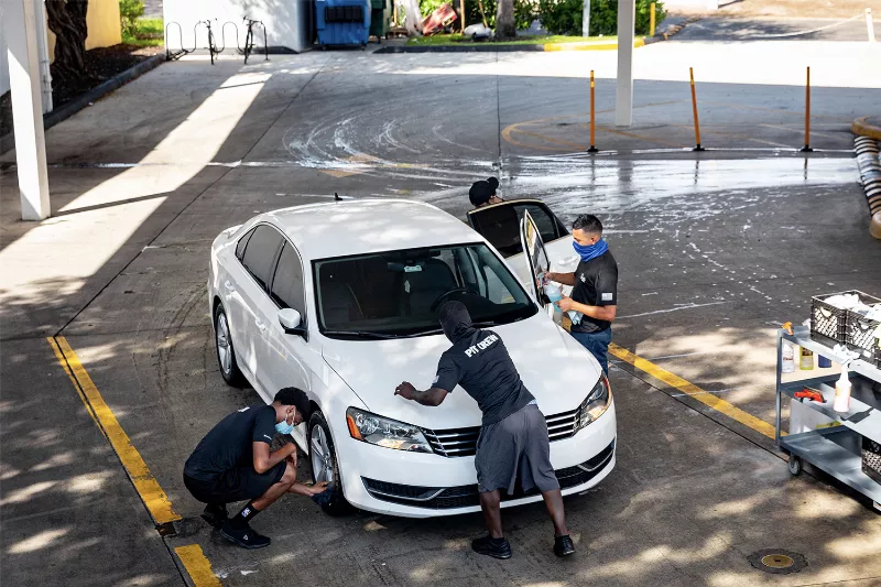
{"type": "Polygon", "coordinates": [[[416,390],[404,381],[395,395],[423,405],[440,405],[460,385],[483,414],[477,441],[477,486],[489,535],[471,542],[479,554],[510,558],[511,545],[502,533],[500,489],[513,493],[518,478],[524,491],[537,489],[554,522],[554,553],[566,556],[575,545],[566,529],[563,494],[551,465],[547,424],[535,398],[523,385],[501,337],[471,324],[460,302],[447,302],[438,313],[444,334],[453,343],[440,357],[432,388],[416,390]]]}

